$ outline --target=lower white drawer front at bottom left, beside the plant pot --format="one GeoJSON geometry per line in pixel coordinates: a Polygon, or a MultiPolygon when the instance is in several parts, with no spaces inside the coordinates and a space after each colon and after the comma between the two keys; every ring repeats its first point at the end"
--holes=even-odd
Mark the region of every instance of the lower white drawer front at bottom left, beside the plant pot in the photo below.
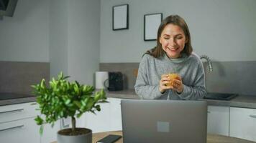
{"type": "Polygon", "coordinates": [[[39,128],[40,127],[37,126],[34,118],[0,123],[0,142],[40,143],[39,128]]]}

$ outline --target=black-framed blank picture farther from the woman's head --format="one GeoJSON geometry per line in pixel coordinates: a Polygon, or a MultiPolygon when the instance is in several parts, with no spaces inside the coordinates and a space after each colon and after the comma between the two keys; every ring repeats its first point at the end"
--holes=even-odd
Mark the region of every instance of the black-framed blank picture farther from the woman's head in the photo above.
{"type": "Polygon", "coordinates": [[[113,30],[129,29],[129,6],[122,4],[113,6],[113,30]]]}

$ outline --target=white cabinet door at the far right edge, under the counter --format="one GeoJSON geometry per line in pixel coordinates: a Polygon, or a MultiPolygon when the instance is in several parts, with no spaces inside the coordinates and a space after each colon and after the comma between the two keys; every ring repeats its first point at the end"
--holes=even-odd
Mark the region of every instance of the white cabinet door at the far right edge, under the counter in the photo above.
{"type": "Polygon", "coordinates": [[[230,107],[230,136],[256,142],[256,109],[230,107]]]}

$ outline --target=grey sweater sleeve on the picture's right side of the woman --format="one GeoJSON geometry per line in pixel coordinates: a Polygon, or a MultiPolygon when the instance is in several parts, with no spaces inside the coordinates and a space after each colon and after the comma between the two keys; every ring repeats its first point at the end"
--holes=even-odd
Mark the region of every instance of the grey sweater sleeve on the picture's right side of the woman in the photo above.
{"type": "Polygon", "coordinates": [[[183,92],[176,93],[181,99],[196,100],[203,99],[206,95],[204,66],[201,62],[198,63],[196,70],[196,79],[194,79],[193,86],[183,84],[183,92]]]}

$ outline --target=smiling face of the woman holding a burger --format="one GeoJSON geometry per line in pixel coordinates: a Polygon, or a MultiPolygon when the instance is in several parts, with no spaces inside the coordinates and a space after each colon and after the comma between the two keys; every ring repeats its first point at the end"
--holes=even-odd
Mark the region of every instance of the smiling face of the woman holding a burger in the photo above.
{"type": "Polygon", "coordinates": [[[183,29],[174,24],[168,24],[160,36],[160,44],[169,58],[179,58],[187,42],[183,29]]]}

